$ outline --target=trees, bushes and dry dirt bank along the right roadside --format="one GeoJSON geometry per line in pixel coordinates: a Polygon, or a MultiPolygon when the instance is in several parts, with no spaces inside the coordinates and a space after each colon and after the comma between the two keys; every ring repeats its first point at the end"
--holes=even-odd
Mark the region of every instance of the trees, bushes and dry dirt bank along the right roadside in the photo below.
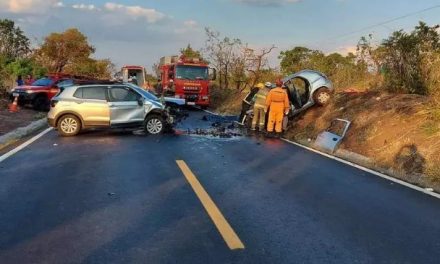
{"type": "Polygon", "coordinates": [[[342,149],[368,157],[364,165],[440,191],[438,29],[420,22],[410,32],[393,32],[378,45],[372,44],[372,35],[365,36],[356,52],[347,55],[294,47],[280,52],[277,69],[267,66],[265,51],[270,49],[253,51],[247,60],[247,45],[207,30],[205,52],[221,76],[212,89],[214,107],[238,113],[241,99],[256,82],[302,69],[321,71],[335,85],[334,100],[298,117],[286,136],[309,144],[333,119],[349,119],[353,123],[342,149]]]}

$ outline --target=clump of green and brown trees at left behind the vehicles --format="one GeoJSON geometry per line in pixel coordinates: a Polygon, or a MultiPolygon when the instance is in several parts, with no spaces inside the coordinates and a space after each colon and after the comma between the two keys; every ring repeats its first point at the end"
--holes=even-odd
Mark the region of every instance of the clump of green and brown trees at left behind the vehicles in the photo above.
{"type": "Polygon", "coordinates": [[[0,96],[15,85],[18,76],[35,79],[46,73],[70,73],[110,78],[114,65],[109,59],[95,59],[95,48],[78,29],[51,33],[33,48],[29,38],[8,19],[0,19],[0,96]]]}

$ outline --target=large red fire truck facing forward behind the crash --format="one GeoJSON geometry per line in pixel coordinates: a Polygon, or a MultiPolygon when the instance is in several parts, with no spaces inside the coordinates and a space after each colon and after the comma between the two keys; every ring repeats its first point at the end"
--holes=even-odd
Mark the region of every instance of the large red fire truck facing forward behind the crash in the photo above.
{"type": "Polygon", "coordinates": [[[157,93],[185,99],[188,105],[209,106],[209,84],[216,72],[198,58],[167,56],[160,60],[157,93]]]}

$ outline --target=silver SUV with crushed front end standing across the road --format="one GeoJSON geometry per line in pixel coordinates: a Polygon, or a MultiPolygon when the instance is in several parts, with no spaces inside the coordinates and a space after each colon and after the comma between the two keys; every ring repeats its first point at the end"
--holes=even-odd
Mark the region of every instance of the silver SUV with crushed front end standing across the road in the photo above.
{"type": "Polygon", "coordinates": [[[47,118],[62,136],[95,127],[144,127],[160,134],[173,122],[156,96],[127,83],[66,87],[52,99],[47,118]]]}

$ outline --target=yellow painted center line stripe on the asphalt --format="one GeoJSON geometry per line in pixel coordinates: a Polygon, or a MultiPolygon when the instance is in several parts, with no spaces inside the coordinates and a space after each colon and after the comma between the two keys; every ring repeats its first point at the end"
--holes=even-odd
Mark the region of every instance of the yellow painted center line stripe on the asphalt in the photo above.
{"type": "Polygon", "coordinates": [[[199,180],[197,180],[197,177],[194,175],[188,165],[186,165],[185,161],[176,160],[176,163],[177,166],[179,166],[180,170],[183,172],[183,175],[185,175],[186,180],[193,188],[197,197],[199,197],[200,202],[202,202],[203,207],[205,208],[206,212],[208,212],[208,215],[211,217],[211,220],[214,222],[229,249],[244,249],[244,245],[241,242],[240,238],[229,225],[228,221],[226,221],[223,214],[215,205],[211,197],[209,197],[209,194],[205,191],[199,180]]]}

